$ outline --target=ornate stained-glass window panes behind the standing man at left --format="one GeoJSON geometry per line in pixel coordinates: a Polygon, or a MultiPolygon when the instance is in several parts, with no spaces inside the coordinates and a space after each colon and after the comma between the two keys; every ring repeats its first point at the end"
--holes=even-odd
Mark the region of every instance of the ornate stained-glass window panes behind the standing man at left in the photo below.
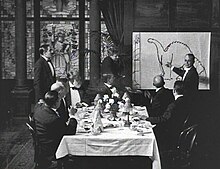
{"type": "MultiPolygon", "coordinates": [[[[0,0],[1,7],[1,78],[15,78],[15,1],[0,0]]],[[[85,1],[85,79],[89,79],[89,1],[85,1]]],[[[79,67],[79,1],[42,0],[40,1],[40,43],[49,42],[54,47],[54,65],[58,76],[66,70],[79,67]],[[68,64],[68,66],[67,66],[68,64]]],[[[27,78],[34,78],[35,28],[34,0],[26,1],[27,14],[27,78]]],[[[104,21],[102,32],[107,32],[104,21]]],[[[103,39],[103,38],[102,38],[103,39]]],[[[102,44],[104,49],[105,44],[102,44]]],[[[102,57],[105,51],[102,50],[102,57]]]]}

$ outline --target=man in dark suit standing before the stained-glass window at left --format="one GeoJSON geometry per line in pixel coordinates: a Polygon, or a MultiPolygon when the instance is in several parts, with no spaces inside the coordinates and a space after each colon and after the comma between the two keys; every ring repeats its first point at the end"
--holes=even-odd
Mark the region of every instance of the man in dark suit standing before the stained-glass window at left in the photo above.
{"type": "Polygon", "coordinates": [[[41,45],[39,51],[40,58],[34,66],[35,102],[43,102],[45,93],[56,81],[55,69],[50,60],[52,55],[49,44],[41,45]]]}

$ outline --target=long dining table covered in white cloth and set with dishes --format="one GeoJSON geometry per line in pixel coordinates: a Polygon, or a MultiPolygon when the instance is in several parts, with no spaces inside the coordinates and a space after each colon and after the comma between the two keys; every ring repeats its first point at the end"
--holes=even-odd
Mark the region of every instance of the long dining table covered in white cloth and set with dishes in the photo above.
{"type": "MultiPolygon", "coordinates": [[[[88,122],[88,114],[92,114],[92,111],[80,110],[79,114],[81,119],[78,122],[76,134],[63,136],[56,151],[56,159],[59,160],[68,155],[78,158],[102,157],[104,159],[106,157],[108,161],[104,164],[110,166],[112,164],[109,162],[111,157],[113,159],[123,157],[125,164],[121,166],[129,168],[132,164],[129,163],[127,157],[135,163],[137,163],[137,159],[142,158],[142,161],[150,159],[152,169],[161,169],[160,154],[153,132],[154,126],[149,125],[149,122],[141,122],[137,118],[141,115],[148,116],[146,107],[134,106],[133,116],[131,115],[128,118],[123,112],[118,112],[117,118],[112,119],[109,112],[104,112],[101,118],[104,129],[98,134],[83,128],[82,121],[88,122]],[[87,114],[86,118],[83,117],[83,114],[87,114]],[[125,127],[126,119],[130,120],[130,125],[125,127]]],[[[94,158],[92,159],[95,161],[94,158]]],[[[103,160],[101,161],[103,162],[103,160]]]]}

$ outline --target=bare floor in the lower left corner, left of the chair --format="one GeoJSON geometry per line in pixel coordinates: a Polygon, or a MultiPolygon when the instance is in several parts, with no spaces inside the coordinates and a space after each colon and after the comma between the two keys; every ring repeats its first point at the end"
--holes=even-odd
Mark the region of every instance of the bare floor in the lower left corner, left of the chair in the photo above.
{"type": "Polygon", "coordinates": [[[32,169],[33,145],[26,119],[1,121],[0,169],[32,169]]]}

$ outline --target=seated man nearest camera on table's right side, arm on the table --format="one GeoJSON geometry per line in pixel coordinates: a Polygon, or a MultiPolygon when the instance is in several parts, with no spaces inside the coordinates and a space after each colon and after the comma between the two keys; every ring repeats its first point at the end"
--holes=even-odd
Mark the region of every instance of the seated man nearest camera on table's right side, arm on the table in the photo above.
{"type": "Polygon", "coordinates": [[[165,112],[157,117],[148,117],[146,120],[152,124],[163,125],[160,133],[163,133],[163,140],[158,144],[161,150],[170,149],[177,145],[179,134],[183,128],[183,123],[189,113],[189,105],[183,96],[184,83],[176,81],[174,83],[173,95],[175,101],[170,103],[165,112]]]}

